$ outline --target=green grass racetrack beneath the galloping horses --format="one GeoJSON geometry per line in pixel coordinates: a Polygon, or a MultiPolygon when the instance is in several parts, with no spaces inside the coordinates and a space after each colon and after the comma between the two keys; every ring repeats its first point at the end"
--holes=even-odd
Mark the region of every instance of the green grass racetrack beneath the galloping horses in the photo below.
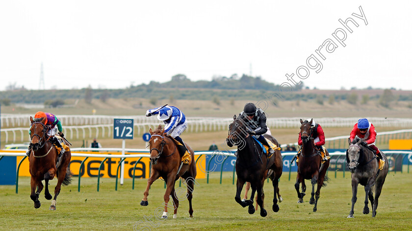
{"type": "MultiPolygon", "coordinates": [[[[272,211],[273,188],[265,183],[265,208],[268,215],[261,217],[259,211],[250,215],[247,207],[242,208],[234,201],[235,185],[232,185],[232,172],[223,175],[220,185],[220,173],[210,174],[209,184],[206,179],[197,180],[193,192],[193,219],[189,219],[187,199],[180,201],[178,218],[173,219],[169,209],[167,220],[156,220],[155,212],[163,208],[164,183],[157,180],[149,191],[149,206],[140,206],[146,179],[138,179],[135,189],[131,189],[131,180],[125,179],[123,186],[115,191],[115,179],[101,179],[100,191],[97,192],[97,178],[82,178],[80,192],[77,192],[77,177],[71,185],[64,186],[57,198],[57,210],[49,210],[51,201],[40,194],[42,206],[33,207],[30,194],[29,177],[19,180],[19,193],[14,185],[0,185],[0,230],[342,230],[342,231],[378,231],[412,229],[412,173],[389,172],[383,187],[377,215],[362,214],[364,206],[363,186],[358,188],[358,201],[355,205],[355,218],[346,218],[351,209],[351,178],[342,172],[329,172],[330,181],[321,189],[317,212],[312,212],[309,205],[311,187],[304,203],[297,203],[294,188],[296,173],[288,181],[284,172],[279,184],[283,202],[280,210],[272,211]]],[[[51,181],[54,190],[56,180],[51,181]]],[[[176,188],[179,182],[176,183],[176,188]]],[[[185,186],[182,184],[184,189],[185,186]]],[[[242,196],[244,191],[242,192],[242,196]]],[[[250,193],[249,193],[250,195],[250,193]]],[[[159,213],[161,214],[161,212],[159,213]]]]}

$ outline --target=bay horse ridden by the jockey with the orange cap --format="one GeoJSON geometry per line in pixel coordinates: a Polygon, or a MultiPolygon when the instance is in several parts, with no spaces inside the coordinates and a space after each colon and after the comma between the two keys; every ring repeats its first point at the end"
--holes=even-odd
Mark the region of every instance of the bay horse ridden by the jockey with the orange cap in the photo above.
{"type": "MultiPolygon", "coordinates": [[[[50,210],[56,210],[56,198],[60,193],[61,185],[69,185],[71,182],[72,173],[69,169],[70,159],[72,154],[70,151],[66,151],[60,158],[59,164],[56,167],[58,158],[57,149],[52,142],[49,141],[50,137],[47,135],[47,130],[50,129],[45,126],[46,118],[33,118],[30,116],[30,132],[31,143],[33,144],[32,151],[28,158],[29,172],[31,175],[30,185],[31,194],[30,198],[34,201],[34,208],[40,208],[39,194],[43,190],[42,181],[45,182],[44,197],[47,200],[52,199],[52,195],[49,192],[49,181],[57,177],[57,185],[54,188],[54,198],[50,210]],[[37,187],[37,191],[36,190],[37,187]]],[[[65,141],[66,142],[66,141],[65,141]]],[[[66,142],[66,145],[69,145],[66,142]]]]}

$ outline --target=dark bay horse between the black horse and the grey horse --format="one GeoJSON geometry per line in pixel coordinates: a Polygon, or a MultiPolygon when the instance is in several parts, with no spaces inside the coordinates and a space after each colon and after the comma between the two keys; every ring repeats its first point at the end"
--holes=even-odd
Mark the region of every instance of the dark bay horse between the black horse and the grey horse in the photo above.
{"type": "MultiPolygon", "coordinates": [[[[310,183],[312,184],[312,193],[309,204],[315,205],[313,207],[313,211],[316,212],[317,202],[320,197],[320,188],[322,186],[326,186],[325,182],[329,180],[329,178],[326,176],[326,171],[328,170],[330,161],[328,160],[324,163],[321,163],[322,156],[316,149],[313,138],[311,137],[313,129],[313,127],[311,126],[312,120],[313,119],[311,119],[310,121],[303,121],[302,119],[300,120],[302,124],[300,128],[300,134],[302,138],[302,153],[298,162],[298,175],[296,176],[295,188],[296,192],[298,193],[298,203],[303,203],[303,197],[306,195],[305,180],[310,180],[310,183]],[[299,183],[302,183],[302,192],[299,191],[299,183]],[[317,189],[315,193],[316,184],[317,189]]],[[[325,155],[329,156],[327,150],[325,150],[325,155]]]]}

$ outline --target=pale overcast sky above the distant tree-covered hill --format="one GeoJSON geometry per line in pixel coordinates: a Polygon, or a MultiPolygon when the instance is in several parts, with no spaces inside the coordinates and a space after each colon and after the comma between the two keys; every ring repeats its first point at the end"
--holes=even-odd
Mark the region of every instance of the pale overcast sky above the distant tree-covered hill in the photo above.
{"type": "Polygon", "coordinates": [[[124,88],[178,73],[192,81],[252,73],[293,85],[305,66],[310,88],[412,90],[412,3],[394,2],[1,1],[0,91],[39,89],[42,63],[46,89],[124,88]],[[360,6],[367,25],[352,15],[360,6]],[[348,23],[352,33],[338,22],[349,17],[359,24],[348,23]],[[345,46],[332,35],[338,28],[345,46]],[[328,39],[337,47],[323,47],[323,60],[315,50],[328,39]],[[310,69],[312,54],[322,69],[310,69]]]}

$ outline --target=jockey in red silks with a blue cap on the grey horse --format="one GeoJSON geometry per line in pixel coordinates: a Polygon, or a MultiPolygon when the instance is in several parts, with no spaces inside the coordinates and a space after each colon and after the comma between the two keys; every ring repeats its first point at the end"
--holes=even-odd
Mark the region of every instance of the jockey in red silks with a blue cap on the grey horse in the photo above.
{"type": "Polygon", "coordinates": [[[382,154],[379,151],[378,147],[375,146],[376,131],[373,124],[371,124],[365,118],[359,119],[358,123],[353,126],[353,129],[351,131],[351,142],[353,139],[355,139],[356,136],[364,139],[365,141],[363,145],[368,145],[370,148],[372,148],[376,152],[376,155],[378,155],[378,157],[385,162],[385,159],[382,157],[382,154]]]}

